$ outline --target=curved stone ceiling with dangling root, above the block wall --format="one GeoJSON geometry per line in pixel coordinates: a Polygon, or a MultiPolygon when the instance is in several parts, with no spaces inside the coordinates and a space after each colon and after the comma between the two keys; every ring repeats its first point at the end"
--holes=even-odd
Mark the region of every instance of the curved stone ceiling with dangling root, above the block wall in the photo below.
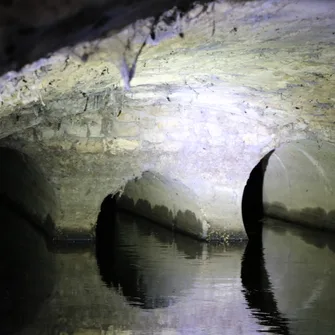
{"type": "MultiPolygon", "coordinates": [[[[334,141],[330,128],[334,110],[335,4],[331,1],[317,4],[313,1],[223,1],[198,5],[182,17],[179,11],[173,10],[162,14],[154,30],[149,11],[147,19],[136,21],[119,33],[116,29],[120,30],[126,19],[118,25],[105,22],[106,16],[116,15],[117,10],[123,14],[118,7],[115,9],[113,1],[94,2],[96,8],[90,25],[82,19],[85,10],[92,5],[88,0],[71,1],[71,6],[66,7],[68,2],[59,3],[57,11],[51,11],[52,1],[38,8],[38,1],[30,2],[28,14],[21,2],[1,10],[3,23],[10,22],[10,27],[14,27],[12,20],[20,23],[14,21],[17,34],[22,27],[31,27],[34,32],[27,30],[27,45],[24,35],[15,40],[14,28],[9,34],[8,28],[2,25],[0,115],[3,119],[15,111],[17,117],[26,114],[26,109],[38,114],[34,120],[25,116],[26,122],[21,121],[23,124],[17,127],[36,125],[42,119],[59,116],[60,105],[67,106],[62,115],[77,114],[85,108],[86,111],[97,108],[97,104],[103,106],[111,95],[116,100],[127,95],[141,99],[145,95],[146,100],[150,100],[153,93],[149,92],[154,87],[155,95],[160,92],[164,96],[183,87],[193,91],[199,99],[199,87],[206,87],[208,94],[213,95],[217,87],[226,85],[229,89],[234,87],[235,94],[252,91],[251,99],[245,104],[266,108],[270,114],[277,109],[285,110],[288,118],[299,115],[317,129],[322,118],[325,137],[334,141]],[[70,33],[69,27],[62,30],[61,24],[67,23],[66,20],[73,24],[70,33]],[[46,24],[53,27],[52,32],[45,28],[46,24]],[[110,31],[111,27],[114,29],[110,31]],[[96,39],[99,34],[107,35],[106,31],[111,37],[96,39]],[[43,33],[52,45],[45,43],[45,38],[38,38],[43,33]],[[181,34],[183,38],[179,37],[181,34]],[[47,53],[67,43],[94,38],[92,42],[47,53]],[[21,46],[21,41],[26,44],[21,46]],[[146,45],[142,48],[143,42],[146,45]],[[10,61],[6,50],[14,47],[16,58],[10,61]],[[47,58],[39,59],[41,56],[47,58]],[[19,72],[5,73],[28,61],[35,62],[19,72]],[[128,87],[132,75],[132,90],[125,91],[123,87],[128,87]],[[69,101],[72,103],[65,103],[69,101]]],[[[129,12],[127,5],[133,6],[131,1],[121,3],[125,12],[129,12]]],[[[158,3],[163,9],[167,6],[164,1],[158,3]]],[[[147,8],[148,2],[140,2],[140,5],[147,8]]],[[[152,7],[150,2],[149,5],[152,7]]],[[[186,4],[183,5],[187,9],[186,4]]],[[[157,8],[157,13],[161,8],[157,8]]],[[[131,20],[131,15],[128,16],[131,20]]],[[[134,17],[138,16],[136,13],[134,17]]],[[[163,101],[165,105],[173,104],[166,97],[163,101]]],[[[9,128],[7,123],[2,127],[2,137],[12,132],[9,128]]]]}

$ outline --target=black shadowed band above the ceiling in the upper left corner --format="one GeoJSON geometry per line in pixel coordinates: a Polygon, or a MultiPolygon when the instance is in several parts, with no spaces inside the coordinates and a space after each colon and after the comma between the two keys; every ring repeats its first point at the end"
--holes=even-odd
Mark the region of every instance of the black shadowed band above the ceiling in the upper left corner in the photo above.
{"type": "MultiPolygon", "coordinates": [[[[247,0],[231,2],[244,3],[247,0]]],[[[154,6],[152,1],[147,0],[108,1],[96,5],[90,3],[79,5],[73,15],[54,21],[49,20],[50,23],[40,25],[29,17],[31,14],[37,14],[33,11],[31,13],[24,11],[26,13],[24,21],[31,24],[22,22],[19,16],[4,15],[1,17],[4,21],[1,22],[2,25],[5,25],[5,20],[8,22],[2,34],[4,52],[0,54],[0,76],[8,71],[18,71],[24,65],[47,57],[48,54],[60,48],[104,38],[109,32],[120,30],[137,20],[154,17],[156,24],[165,20],[167,24],[172,25],[176,22],[178,15],[185,15],[196,4],[201,4],[203,12],[207,12],[208,3],[207,0],[196,2],[194,0],[156,0],[154,6]],[[176,10],[172,14],[164,15],[174,7],[176,10]]],[[[4,4],[1,5],[6,7],[4,4]]],[[[1,5],[0,11],[3,12],[1,5]]],[[[61,10],[61,7],[59,9],[61,10]]],[[[23,10],[21,12],[23,13],[23,10]]],[[[69,12],[71,13],[71,9],[69,12]]],[[[39,13],[43,13],[43,9],[40,9],[39,13]]],[[[181,33],[180,36],[184,35],[181,33]]],[[[88,56],[88,54],[83,55],[83,60],[85,61],[88,56]]]]}

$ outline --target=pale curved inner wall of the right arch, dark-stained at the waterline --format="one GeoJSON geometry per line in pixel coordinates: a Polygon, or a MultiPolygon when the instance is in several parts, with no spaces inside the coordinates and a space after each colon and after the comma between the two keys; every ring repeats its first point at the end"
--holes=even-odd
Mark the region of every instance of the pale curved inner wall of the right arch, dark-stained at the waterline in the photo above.
{"type": "Polygon", "coordinates": [[[334,144],[283,144],[271,155],[264,175],[265,214],[335,231],[334,162],[334,144]]]}

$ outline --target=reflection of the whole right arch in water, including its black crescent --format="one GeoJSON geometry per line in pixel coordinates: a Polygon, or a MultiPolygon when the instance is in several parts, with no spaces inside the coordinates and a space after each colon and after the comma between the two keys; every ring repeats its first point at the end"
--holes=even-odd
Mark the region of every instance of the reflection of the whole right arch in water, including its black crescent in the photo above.
{"type": "Polygon", "coordinates": [[[332,234],[265,222],[263,237],[248,243],[241,266],[259,332],[333,334],[334,246],[332,234]]]}

